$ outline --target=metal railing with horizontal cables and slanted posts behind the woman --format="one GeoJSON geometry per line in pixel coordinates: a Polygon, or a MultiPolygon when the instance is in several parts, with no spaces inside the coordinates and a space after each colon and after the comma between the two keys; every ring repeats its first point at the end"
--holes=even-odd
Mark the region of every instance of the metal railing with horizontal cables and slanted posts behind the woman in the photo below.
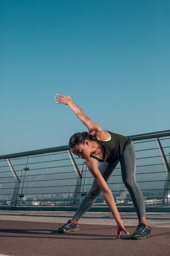
{"type": "MultiPolygon", "coordinates": [[[[135,144],[136,180],[145,203],[170,205],[170,130],[129,136],[135,144]]],[[[68,146],[0,156],[0,205],[78,207],[93,177],[68,146]]],[[[117,205],[132,204],[120,165],[108,181],[117,205]]],[[[96,205],[105,205],[102,195],[96,205]]]]}

